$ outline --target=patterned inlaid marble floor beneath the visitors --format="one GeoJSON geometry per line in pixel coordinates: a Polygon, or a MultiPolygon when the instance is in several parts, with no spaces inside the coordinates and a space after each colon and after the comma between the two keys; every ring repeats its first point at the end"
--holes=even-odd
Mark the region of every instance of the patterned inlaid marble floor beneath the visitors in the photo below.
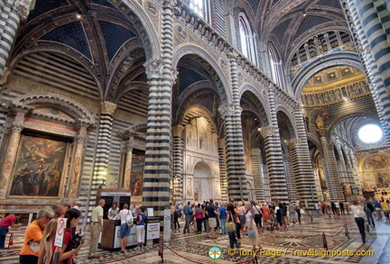
{"type": "MultiPolygon", "coordinates": [[[[181,223],[182,228],[182,223],[181,223]]],[[[23,230],[20,231],[23,233],[23,230]]],[[[265,231],[259,233],[263,250],[251,251],[246,236],[241,241],[242,250],[228,250],[228,235],[218,234],[216,240],[206,233],[182,229],[172,232],[172,240],[164,244],[164,263],[390,263],[390,223],[376,222],[376,231],[367,232],[367,242],[361,241],[352,215],[306,216],[302,224],[290,225],[287,231],[265,231]],[[348,230],[348,232],[347,232],[348,230]],[[328,255],[324,248],[324,238],[328,255]],[[211,249],[218,247],[221,251],[211,249]],[[211,251],[210,251],[211,250],[211,251]],[[221,252],[219,254],[219,252],[221,252]],[[359,255],[357,255],[357,253],[359,255]],[[333,254],[330,255],[330,254],[333,254]],[[211,255],[211,257],[209,257],[211,255]],[[371,255],[371,256],[361,256],[371,255]],[[211,259],[212,258],[212,259],[211,259]],[[218,258],[218,259],[217,259],[218,258]]],[[[23,235],[14,237],[14,243],[7,250],[0,250],[0,263],[18,263],[23,235]]],[[[8,245],[8,239],[5,246],[8,245]]],[[[77,264],[89,263],[162,263],[158,245],[147,246],[143,251],[130,249],[126,253],[98,250],[100,259],[88,259],[88,236],[85,246],[75,259],[77,264]]]]}

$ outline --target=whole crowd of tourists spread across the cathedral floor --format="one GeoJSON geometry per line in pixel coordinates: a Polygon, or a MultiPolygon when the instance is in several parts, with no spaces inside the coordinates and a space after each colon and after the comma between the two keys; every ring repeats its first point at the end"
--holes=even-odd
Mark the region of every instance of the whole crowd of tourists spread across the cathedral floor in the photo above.
{"type": "MultiPolygon", "coordinates": [[[[88,258],[99,258],[96,254],[98,249],[98,240],[100,233],[103,232],[103,207],[106,201],[100,199],[90,217],[90,241],[88,258]]],[[[316,214],[349,214],[349,210],[355,218],[357,228],[360,232],[363,242],[366,242],[366,229],[376,229],[376,221],[389,221],[389,200],[365,199],[360,202],[353,201],[352,205],[348,202],[319,202],[311,208],[311,212],[316,214]],[[367,226],[365,221],[367,220],[367,226]]],[[[267,202],[259,204],[256,201],[233,201],[228,203],[214,203],[213,199],[204,201],[202,204],[191,204],[181,207],[176,201],[172,201],[172,232],[180,229],[180,220],[184,221],[183,233],[196,232],[200,234],[206,232],[210,239],[217,239],[220,235],[228,234],[229,246],[241,248],[243,237],[247,237],[253,250],[261,249],[259,241],[259,232],[265,230],[286,231],[289,225],[302,223],[302,217],[306,214],[305,208],[301,202],[291,202],[289,204],[281,201],[267,202]]],[[[117,203],[113,203],[108,210],[108,218],[120,220],[120,241],[121,252],[126,251],[126,245],[130,236],[130,229],[135,225],[137,237],[137,249],[144,246],[144,225],[145,209],[143,206],[138,208],[133,205],[123,205],[119,210],[117,203]]],[[[30,223],[24,233],[23,246],[20,251],[20,263],[53,263],[54,252],[59,253],[61,264],[73,263],[73,257],[77,256],[83,246],[82,233],[77,228],[80,217],[79,207],[74,202],[70,205],[54,205],[53,207],[42,208],[36,217],[36,220],[30,223]],[[54,237],[57,226],[57,219],[65,217],[68,219],[64,232],[63,247],[57,249],[54,247],[54,237]],[[76,239],[78,238],[78,239],[76,239]],[[79,239],[81,238],[81,239],[79,239]]],[[[5,247],[5,234],[9,228],[20,226],[19,214],[9,214],[0,222],[0,249],[5,247]]]]}

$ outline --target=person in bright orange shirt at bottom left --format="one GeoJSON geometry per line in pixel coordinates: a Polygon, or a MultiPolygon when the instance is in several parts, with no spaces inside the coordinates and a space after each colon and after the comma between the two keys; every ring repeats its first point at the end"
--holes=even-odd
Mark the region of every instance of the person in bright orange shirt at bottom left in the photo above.
{"type": "Polygon", "coordinates": [[[54,212],[50,207],[44,207],[37,214],[37,220],[30,223],[24,232],[24,241],[19,256],[20,264],[38,263],[40,256],[40,243],[42,232],[47,223],[54,217],[54,212]]]}

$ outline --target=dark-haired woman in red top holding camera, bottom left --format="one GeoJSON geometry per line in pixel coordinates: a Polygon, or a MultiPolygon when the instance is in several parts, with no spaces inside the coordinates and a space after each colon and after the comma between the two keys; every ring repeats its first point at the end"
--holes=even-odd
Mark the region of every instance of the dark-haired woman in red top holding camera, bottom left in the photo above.
{"type": "MultiPolygon", "coordinates": [[[[62,248],[59,248],[58,251],[60,251],[60,262],[59,264],[72,264],[72,258],[74,255],[77,255],[79,253],[79,250],[81,249],[82,243],[79,243],[79,247],[76,249],[73,249],[73,238],[71,236],[71,229],[76,227],[79,223],[79,217],[80,217],[79,210],[77,209],[70,209],[65,213],[65,218],[68,218],[67,226],[64,233],[64,240],[63,240],[63,246],[62,248]]],[[[54,247],[54,241],[53,241],[53,252],[55,251],[54,247]]],[[[51,261],[51,263],[54,263],[54,259],[51,261]]]]}

